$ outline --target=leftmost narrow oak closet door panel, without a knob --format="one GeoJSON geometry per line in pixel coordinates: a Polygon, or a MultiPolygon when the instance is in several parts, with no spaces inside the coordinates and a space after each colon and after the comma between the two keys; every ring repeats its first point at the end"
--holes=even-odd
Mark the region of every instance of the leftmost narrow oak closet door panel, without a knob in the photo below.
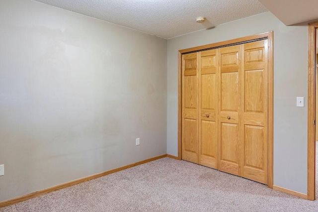
{"type": "Polygon", "coordinates": [[[182,55],[182,159],[193,163],[198,163],[197,55],[182,55]]]}

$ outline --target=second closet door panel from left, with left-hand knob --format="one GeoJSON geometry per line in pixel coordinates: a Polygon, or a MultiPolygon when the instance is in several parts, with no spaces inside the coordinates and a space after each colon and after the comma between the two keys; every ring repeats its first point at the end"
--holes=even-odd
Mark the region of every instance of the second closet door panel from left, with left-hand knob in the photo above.
{"type": "Polygon", "coordinates": [[[216,50],[199,52],[199,164],[218,168],[218,60],[216,50]]]}

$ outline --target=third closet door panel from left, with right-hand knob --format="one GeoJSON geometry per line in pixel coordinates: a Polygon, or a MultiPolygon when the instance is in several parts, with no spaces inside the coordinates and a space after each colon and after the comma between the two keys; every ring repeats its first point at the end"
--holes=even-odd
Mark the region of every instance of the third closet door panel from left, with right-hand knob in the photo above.
{"type": "Polygon", "coordinates": [[[240,175],[241,45],[219,51],[219,170],[240,175]]]}

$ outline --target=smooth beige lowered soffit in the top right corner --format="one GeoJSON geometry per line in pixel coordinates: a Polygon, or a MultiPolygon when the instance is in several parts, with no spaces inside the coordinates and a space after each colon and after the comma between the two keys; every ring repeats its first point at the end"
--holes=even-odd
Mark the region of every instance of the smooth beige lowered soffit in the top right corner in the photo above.
{"type": "Polygon", "coordinates": [[[318,0],[259,0],[285,25],[318,18],[318,0]]]}

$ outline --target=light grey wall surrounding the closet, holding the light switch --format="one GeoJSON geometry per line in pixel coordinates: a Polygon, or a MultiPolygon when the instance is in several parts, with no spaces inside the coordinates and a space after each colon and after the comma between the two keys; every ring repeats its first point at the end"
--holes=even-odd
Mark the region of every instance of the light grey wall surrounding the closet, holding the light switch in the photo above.
{"type": "Polygon", "coordinates": [[[167,41],[167,153],[177,155],[177,51],[274,31],[274,185],[307,194],[308,25],[266,12],[167,41]]]}

